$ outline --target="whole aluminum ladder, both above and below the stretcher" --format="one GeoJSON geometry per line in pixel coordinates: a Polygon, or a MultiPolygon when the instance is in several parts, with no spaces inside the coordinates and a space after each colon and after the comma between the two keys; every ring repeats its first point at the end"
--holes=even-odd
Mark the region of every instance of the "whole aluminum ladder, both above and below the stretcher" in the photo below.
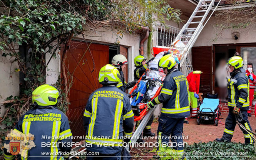
{"type": "MultiPolygon", "coordinates": [[[[192,48],[194,43],[196,42],[196,39],[198,38],[199,34],[201,33],[202,29],[204,28],[204,25],[207,23],[207,21],[211,18],[212,14],[218,7],[221,0],[219,0],[219,3],[216,5],[214,10],[212,11],[211,15],[209,16],[206,23],[204,21],[206,20],[207,15],[209,14],[210,10],[212,9],[212,5],[214,4],[215,0],[200,0],[198,2],[197,7],[195,8],[194,12],[190,16],[187,23],[182,27],[179,34],[176,36],[176,42],[177,40],[182,40],[185,47],[181,48],[180,53],[182,56],[181,58],[181,71],[186,76],[193,71],[191,61],[189,59],[189,50],[192,48]],[[197,13],[204,13],[204,15],[197,15],[197,13]],[[197,27],[189,28],[191,24],[197,25],[197,27]],[[185,40],[185,41],[183,41],[185,40]]],[[[151,109],[145,117],[142,119],[141,123],[135,130],[134,134],[131,137],[131,143],[135,143],[137,141],[137,138],[142,133],[142,130],[144,127],[146,127],[147,122],[149,121],[150,117],[153,115],[155,109],[157,106],[155,106],[153,109],[151,109]]],[[[129,147],[126,147],[126,149],[130,152],[129,147]]],[[[131,148],[130,148],[131,149],[131,148]]]]}

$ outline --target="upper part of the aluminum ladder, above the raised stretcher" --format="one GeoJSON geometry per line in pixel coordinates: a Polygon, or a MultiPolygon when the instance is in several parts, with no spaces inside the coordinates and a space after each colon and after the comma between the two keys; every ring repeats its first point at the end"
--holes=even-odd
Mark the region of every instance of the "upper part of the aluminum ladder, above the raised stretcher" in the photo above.
{"type": "Polygon", "coordinates": [[[210,10],[212,10],[212,6],[214,5],[215,0],[200,0],[190,16],[187,23],[182,27],[179,34],[176,36],[177,40],[181,40],[185,47],[179,49],[180,53],[182,55],[181,58],[181,71],[184,75],[188,75],[193,71],[192,64],[189,58],[189,50],[192,48],[194,43],[196,42],[199,34],[201,33],[202,29],[206,25],[207,21],[211,18],[212,14],[218,7],[221,0],[219,0],[218,4],[212,11],[211,15],[209,16],[208,20],[205,22],[210,10]],[[203,15],[201,14],[203,13],[203,15]],[[193,28],[190,27],[191,25],[194,25],[193,28]]]}

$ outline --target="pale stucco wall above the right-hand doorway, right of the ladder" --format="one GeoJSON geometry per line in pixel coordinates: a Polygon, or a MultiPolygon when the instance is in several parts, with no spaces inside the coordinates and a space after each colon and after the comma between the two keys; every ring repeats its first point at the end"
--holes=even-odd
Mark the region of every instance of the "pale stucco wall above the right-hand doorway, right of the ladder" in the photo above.
{"type": "Polygon", "coordinates": [[[217,19],[215,17],[212,17],[197,38],[194,46],[211,46],[214,44],[256,42],[256,27],[224,30],[221,36],[216,39],[216,34],[220,33],[219,29],[214,27],[216,24],[217,19]],[[234,37],[231,35],[231,33],[233,33],[234,31],[238,31],[240,33],[238,40],[235,40],[234,37]]]}

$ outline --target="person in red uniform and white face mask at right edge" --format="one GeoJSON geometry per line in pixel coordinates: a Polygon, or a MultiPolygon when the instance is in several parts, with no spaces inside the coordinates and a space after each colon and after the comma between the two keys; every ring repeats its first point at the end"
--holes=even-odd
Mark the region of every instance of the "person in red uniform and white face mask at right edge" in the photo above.
{"type": "Polygon", "coordinates": [[[252,63],[248,63],[247,64],[247,70],[246,70],[246,75],[249,78],[249,100],[250,100],[250,106],[249,109],[247,111],[248,116],[251,117],[251,106],[253,104],[253,98],[254,98],[254,89],[255,89],[255,84],[256,84],[256,76],[253,73],[253,64],[252,63]]]}

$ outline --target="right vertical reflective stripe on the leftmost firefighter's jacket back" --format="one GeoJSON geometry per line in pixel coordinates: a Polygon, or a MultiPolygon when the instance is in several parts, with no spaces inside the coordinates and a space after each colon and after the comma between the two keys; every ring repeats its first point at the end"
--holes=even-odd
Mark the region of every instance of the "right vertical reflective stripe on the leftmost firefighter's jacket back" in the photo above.
{"type": "Polygon", "coordinates": [[[58,137],[60,135],[60,121],[54,121],[52,124],[52,138],[51,139],[51,157],[50,160],[57,160],[58,156],[58,147],[56,142],[58,141],[58,137]]]}

